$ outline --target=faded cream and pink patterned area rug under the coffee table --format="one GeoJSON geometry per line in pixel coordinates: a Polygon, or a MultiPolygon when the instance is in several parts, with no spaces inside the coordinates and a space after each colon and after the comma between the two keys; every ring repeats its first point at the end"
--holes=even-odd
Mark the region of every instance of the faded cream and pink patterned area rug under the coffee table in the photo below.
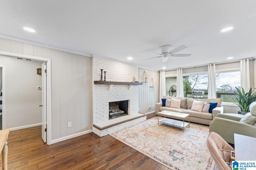
{"type": "Polygon", "coordinates": [[[171,170],[212,170],[214,161],[206,145],[209,127],[190,123],[184,133],[180,130],[158,125],[154,117],[110,135],[171,170]]]}

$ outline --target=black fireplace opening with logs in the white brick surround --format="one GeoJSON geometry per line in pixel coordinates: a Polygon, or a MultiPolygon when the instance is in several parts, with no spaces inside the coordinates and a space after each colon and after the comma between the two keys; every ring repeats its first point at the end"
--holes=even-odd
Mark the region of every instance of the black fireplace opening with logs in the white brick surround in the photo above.
{"type": "Polygon", "coordinates": [[[128,115],[128,100],[109,102],[109,119],[128,115]]]}

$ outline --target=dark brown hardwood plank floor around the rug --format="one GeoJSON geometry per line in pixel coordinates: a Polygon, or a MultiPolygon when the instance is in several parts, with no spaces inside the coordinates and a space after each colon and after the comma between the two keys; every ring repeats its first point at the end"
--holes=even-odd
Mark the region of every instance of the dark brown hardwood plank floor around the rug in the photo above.
{"type": "Polygon", "coordinates": [[[168,170],[110,135],[89,133],[46,145],[41,126],[10,131],[8,170],[13,169],[168,170]]]}

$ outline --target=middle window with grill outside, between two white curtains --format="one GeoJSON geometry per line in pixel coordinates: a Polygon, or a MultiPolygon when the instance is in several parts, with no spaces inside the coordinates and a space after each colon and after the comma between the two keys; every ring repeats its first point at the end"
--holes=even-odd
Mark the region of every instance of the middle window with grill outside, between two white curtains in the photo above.
{"type": "Polygon", "coordinates": [[[194,74],[183,76],[184,97],[191,98],[192,91],[204,91],[203,98],[208,98],[208,74],[194,74]]]}

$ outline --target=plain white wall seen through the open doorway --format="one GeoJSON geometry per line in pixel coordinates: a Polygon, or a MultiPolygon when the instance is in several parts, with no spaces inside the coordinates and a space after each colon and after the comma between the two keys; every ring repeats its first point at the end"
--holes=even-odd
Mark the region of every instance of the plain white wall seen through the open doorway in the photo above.
{"type": "Polygon", "coordinates": [[[42,77],[36,74],[42,62],[27,61],[0,56],[0,64],[6,68],[6,128],[41,123],[42,77]]]}

